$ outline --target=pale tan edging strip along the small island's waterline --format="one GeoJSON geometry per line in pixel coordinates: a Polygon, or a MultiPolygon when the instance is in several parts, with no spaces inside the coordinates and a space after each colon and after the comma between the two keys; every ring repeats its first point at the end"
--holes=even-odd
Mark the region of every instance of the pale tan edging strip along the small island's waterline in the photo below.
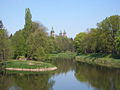
{"type": "Polygon", "coordinates": [[[5,68],[10,71],[32,71],[32,72],[42,72],[42,71],[53,71],[56,70],[57,67],[52,68],[38,68],[38,69],[26,69],[26,68],[5,68]]]}

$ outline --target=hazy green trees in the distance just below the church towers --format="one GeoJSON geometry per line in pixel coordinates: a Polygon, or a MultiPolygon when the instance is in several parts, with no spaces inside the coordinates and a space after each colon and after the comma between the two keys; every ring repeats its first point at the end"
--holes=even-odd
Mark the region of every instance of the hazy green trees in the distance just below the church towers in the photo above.
{"type": "Polygon", "coordinates": [[[64,36],[50,38],[51,53],[60,53],[65,51],[74,51],[73,40],[64,36]]]}

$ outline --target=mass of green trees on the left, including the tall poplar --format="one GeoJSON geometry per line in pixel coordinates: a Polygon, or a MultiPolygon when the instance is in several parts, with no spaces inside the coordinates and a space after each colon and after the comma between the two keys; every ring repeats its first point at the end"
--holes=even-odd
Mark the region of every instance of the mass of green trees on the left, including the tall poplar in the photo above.
{"type": "MultiPolygon", "coordinates": [[[[27,8],[25,11],[24,28],[17,31],[14,35],[10,35],[10,37],[5,32],[4,37],[1,38],[0,48],[4,49],[3,47],[9,48],[11,46],[14,52],[14,59],[23,56],[29,60],[44,60],[46,55],[50,53],[74,51],[73,40],[71,38],[66,36],[51,37],[48,36],[46,30],[47,28],[42,24],[32,21],[30,9],[27,8]],[[11,45],[9,45],[9,41],[11,41],[11,45]]],[[[0,53],[2,55],[3,51],[0,53]]],[[[7,54],[5,55],[7,56],[7,54]]]]}

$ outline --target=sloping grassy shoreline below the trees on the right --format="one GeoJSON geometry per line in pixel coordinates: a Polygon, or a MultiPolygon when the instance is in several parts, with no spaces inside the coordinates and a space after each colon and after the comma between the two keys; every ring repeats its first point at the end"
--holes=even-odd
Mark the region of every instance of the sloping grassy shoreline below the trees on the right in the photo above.
{"type": "Polygon", "coordinates": [[[108,68],[119,68],[120,69],[120,59],[113,58],[95,58],[88,56],[76,56],[75,60],[77,62],[88,63],[98,66],[104,66],[108,68]]]}

